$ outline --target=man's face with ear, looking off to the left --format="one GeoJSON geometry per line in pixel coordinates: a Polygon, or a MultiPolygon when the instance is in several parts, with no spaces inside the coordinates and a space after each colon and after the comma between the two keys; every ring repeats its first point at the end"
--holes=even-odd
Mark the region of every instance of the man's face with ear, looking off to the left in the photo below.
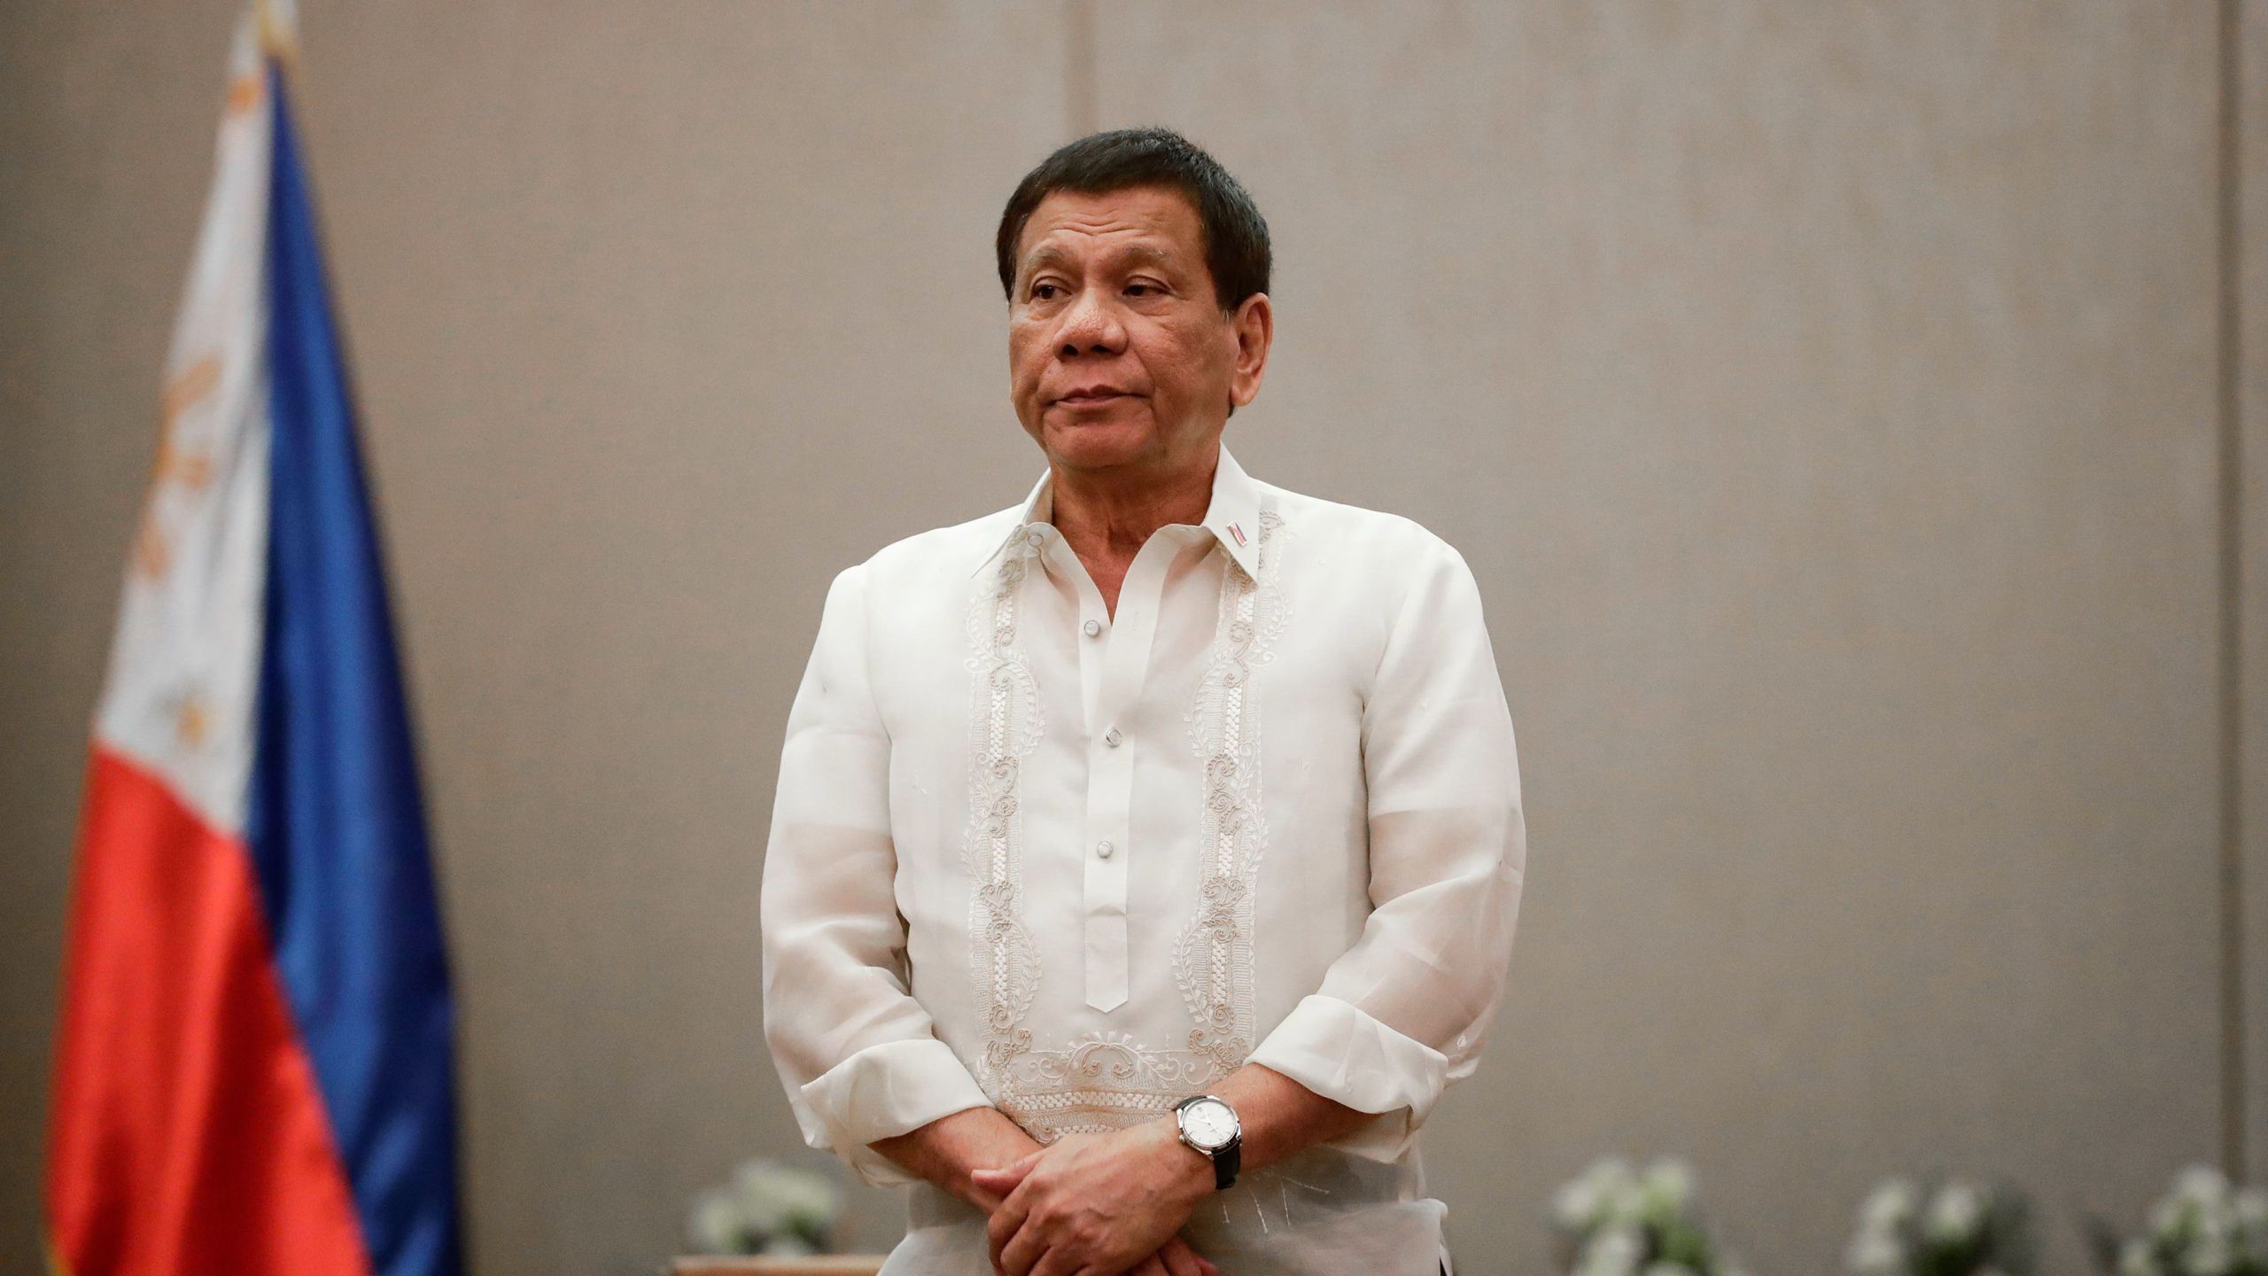
{"type": "Polygon", "coordinates": [[[1220,313],[1204,227],[1177,191],[1057,191],[1032,209],[1009,297],[1009,397],[1050,461],[1166,470],[1211,454],[1259,393],[1268,297],[1220,313]]]}

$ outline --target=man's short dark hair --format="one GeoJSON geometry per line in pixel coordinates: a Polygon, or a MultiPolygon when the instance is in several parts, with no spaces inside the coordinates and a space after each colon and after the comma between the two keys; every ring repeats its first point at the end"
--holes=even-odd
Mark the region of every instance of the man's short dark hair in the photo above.
{"type": "Polygon", "coordinates": [[[1213,300],[1222,311],[1234,313],[1245,297],[1268,291],[1268,220],[1252,195],[1218,159],[1186,136],[1157,127],[1086,134],[1023,175],[1000,211],[1000,234],[993,241],[1000,291],[1016,297],[1016,241],[1041,200],[1057,191],[1109,195],[1132,186],[1166,186],[1198,209],[1204,268],[1213,275],[1213,300]]]}

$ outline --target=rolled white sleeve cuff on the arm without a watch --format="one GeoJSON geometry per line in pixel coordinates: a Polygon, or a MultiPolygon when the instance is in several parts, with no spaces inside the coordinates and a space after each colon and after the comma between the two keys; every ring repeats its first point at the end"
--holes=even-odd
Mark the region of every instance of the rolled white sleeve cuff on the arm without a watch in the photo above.
{"type": "Polygon", "coordinates": [[[914,1176],[866,1144],[953,1113],[991,1108],[991,1099],[953,1047],[923,1038],[853,1053],[798,1090],[794,1108],[803,1142],[835,1151],[862,1181],[891,1187],[914,1176]]]}

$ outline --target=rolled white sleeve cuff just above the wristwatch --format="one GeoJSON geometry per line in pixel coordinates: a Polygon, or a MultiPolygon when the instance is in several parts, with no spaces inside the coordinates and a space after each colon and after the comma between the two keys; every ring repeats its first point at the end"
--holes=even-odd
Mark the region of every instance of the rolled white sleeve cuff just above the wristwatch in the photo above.
{"type": "Polygon", "coordinates": [[[1399,1160],[1449,1083],[1449,1056],[1325,994],[1293,1006],[1250,1063],[1356,1113],[1377,1113],[1379,1119],[1331,1140],[1370,1160],[1399,1160]]]}

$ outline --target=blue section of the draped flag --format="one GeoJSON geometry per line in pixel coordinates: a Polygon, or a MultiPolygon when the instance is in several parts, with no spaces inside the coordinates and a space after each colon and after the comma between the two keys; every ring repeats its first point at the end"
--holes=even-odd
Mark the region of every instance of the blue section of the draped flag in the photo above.
{"type": "Polygon", "coordinates": [[[245,838],[370,1271],[456,1276],[454,1010],[424,799],[313,198],[274,61],[268,86],[274,436],[245,838]]]}

